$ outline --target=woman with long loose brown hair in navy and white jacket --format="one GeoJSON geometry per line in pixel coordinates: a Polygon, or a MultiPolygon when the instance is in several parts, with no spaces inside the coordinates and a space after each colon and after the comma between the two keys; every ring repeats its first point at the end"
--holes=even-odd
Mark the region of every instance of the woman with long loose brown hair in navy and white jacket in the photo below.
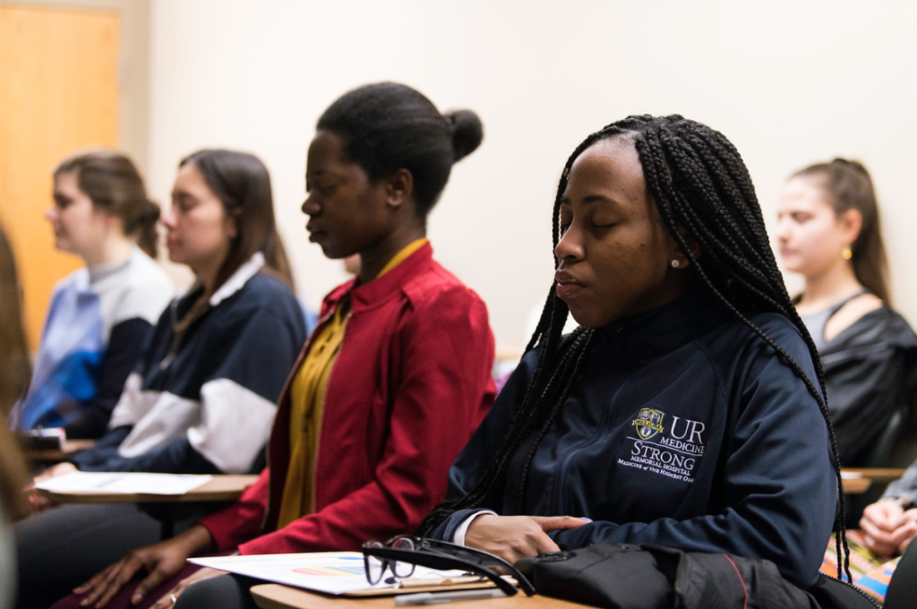
{"type": "MultiPolygon", "coordinates": [[[[268,171],[250,154],[196,152],[179,167],[162,222],[171,260],[196,282],[160,316],[105,436],[39,478],[263,467],[275,404],[305,341],[268,171]]],[[[15,529],[20,607],[48,606],[160,537],[157,521],[129,504],[63,505],[15,529]]]]}

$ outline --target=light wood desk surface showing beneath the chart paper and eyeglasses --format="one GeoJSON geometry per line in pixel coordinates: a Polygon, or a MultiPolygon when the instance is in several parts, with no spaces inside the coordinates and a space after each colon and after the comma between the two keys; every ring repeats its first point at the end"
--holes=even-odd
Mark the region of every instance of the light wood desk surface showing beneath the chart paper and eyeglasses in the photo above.
{"type": "MultiPolygon", "coordinates": [[[[359,599],[327,596],[282,586],[279,583],[254,586],[251,589],[251,597],[261,609],[392,609],[395,606],[392,596],[359,599]]],[[[525,596],[523,592],[506,598],[465,601],[465,603],[473,603],[469,606],[473,606],[474,609],[582,609],[585,606],[540,594],[525,596]]],[[[452,604],[456,603],[449,603],[449,605],[452,604]]]]}

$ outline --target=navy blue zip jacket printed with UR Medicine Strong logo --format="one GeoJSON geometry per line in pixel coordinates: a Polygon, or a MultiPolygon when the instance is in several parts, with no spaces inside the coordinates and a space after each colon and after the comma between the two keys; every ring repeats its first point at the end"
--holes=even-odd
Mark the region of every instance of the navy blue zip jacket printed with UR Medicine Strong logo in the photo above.
{"type": "MultiPolygon", "coordinates": [[[[815,379],[799,331],[751,317],[815,379]]],[[[525,387],[525,355],[449,471],[462,495],[490,464],[525,387]]],[[[556,531],[562,549],[603,540],[727,552],[777,563],[788,580],[817,578],[834,520],[827,426],[799,377],[761,338],[705,294],[596,331],[567,403],[536,449],[525,515],[594,522],[556,531]]],[[[497,514],[514,515],[530,437],[511,461],[497,514]]],[[[452,539],[462,510],[433,537],[452,539]]]]}

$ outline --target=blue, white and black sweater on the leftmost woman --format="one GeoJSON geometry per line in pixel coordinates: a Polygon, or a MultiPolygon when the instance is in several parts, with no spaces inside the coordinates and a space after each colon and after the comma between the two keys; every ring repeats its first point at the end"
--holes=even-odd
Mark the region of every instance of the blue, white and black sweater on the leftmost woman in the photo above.
{"type": "Polygon", "coordinates": [[[28,393],[10,417],[13,428],[62,426],[68,437],[101,436],[173,292],[166,272],[136,247],[123,262],[73,271],[58,282],[28,393]]]}

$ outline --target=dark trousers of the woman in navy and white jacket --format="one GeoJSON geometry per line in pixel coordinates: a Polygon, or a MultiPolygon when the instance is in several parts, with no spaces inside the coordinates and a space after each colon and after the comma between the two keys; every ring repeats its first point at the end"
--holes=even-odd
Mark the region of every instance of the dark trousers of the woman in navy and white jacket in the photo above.
{"type": "MultiPolygon", "coordinates": [[[[176,523],[176,531],[200,517],[176,523]]],[[[160,541],[160,522],[135,504],[72,504],[13,526],[17,609],[47,609],[131,549],[160,541]]]]}

